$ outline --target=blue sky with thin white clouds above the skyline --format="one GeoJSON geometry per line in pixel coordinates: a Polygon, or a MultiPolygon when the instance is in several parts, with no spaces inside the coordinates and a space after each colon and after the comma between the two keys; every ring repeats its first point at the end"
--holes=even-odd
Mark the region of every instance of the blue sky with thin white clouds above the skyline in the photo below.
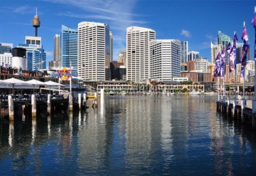
{"type": "MultiPolygon", "coordinates": [[[[221,31],[233,38],[237,32],[242,42],[243,22],[253,57],[254,0],[1,0],[0,42],[23,43],[25,36],[34,36],[32,20],[38,8],[47,61],[53,59],[53,37],[60,34],[61,24],[77,29],[84,21],[108,23],[114,37],[114,58],[126,48],[126,28],[139,26],[154,29],[156,39],[188,41],[188,50],[199,51],[210,60],[210,41],[217,42],[221,31]]],[[[48,63],[47,63],[48,65],[48,63]]]]}

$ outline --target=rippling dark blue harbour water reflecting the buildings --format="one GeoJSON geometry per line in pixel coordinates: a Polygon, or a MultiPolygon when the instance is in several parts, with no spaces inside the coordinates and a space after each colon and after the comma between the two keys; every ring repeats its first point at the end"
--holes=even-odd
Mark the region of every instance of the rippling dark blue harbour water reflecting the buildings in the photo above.
{"type": "Polygon", "coordinates": [[[105,96],[2,122],[0,175],[255,175],[256,135],[215,96],[105,96]]]}

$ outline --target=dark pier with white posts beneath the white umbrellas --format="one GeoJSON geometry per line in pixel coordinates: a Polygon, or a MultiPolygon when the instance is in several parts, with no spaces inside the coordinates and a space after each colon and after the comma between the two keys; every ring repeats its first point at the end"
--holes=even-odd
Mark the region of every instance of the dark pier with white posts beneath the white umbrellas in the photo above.
{"type": "Polygon", "coordinates": [[[10,121],[23,116],[36,117],[38,114],[51,114],[59,110],[86,110],[86,95],[2,95],[0,97],[1,118],[10,121]]]}

